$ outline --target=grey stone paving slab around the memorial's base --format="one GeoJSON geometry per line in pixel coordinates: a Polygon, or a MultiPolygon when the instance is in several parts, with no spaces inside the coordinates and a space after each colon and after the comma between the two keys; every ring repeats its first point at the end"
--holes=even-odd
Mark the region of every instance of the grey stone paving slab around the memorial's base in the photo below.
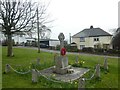
{"type": "Polygon", "coordinates": [[[40,73],[42,75],[47,76],[47,77],[55,78],[56,80],[59,80],[59,81],[70,82],[70,81],[74,81],[76,79],[79,79],[85,73],[87,73],[89,71],[89,69],[86,69],[86,68],[72,67],[72,69],[74,70],[73,73],[71,73],[71,74],[63,74],[63,75],[53,73],[53,67],[44,69],[44,70],[40,71],[40,73]]]}

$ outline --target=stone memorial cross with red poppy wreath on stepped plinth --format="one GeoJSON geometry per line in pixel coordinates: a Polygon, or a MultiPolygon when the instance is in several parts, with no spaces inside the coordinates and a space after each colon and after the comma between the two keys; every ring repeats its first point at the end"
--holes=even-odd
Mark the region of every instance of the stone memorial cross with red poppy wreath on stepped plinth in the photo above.
{"type": "MultiPolygon", "coordinates": [[[[68,57],[65,55],[66,49],[64,48],[64,34],[60,33],[58,39],[60,40],[60,56],[55,57],[55,67],[53,68],[53,72],[57,74],[67,74],[71,66],[68,65],[68,57]]],[[[73,70],[71,71],[73,72],[73,70]]]]}

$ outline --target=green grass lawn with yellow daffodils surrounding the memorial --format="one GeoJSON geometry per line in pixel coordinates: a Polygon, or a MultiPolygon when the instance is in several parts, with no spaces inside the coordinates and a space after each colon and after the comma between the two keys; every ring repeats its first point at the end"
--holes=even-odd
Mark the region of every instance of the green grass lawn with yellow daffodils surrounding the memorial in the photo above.
{"type": "MultiPolygon", "coordinates": [[[[7,48],[2,48],[2,72],[5,71],[5,65],[10,64],[17,69],[29,69],[31,63],[36,63],[36,59],[40,58],[39,70],[51,67],[54,65],[54,53],[41,52],[37,50],[14,48],[14,57],[6,57],[7,48]],[[18,66],[21,65],[21,66],[18,66]]],[[[69,64],[74,64],[76,55],[67,55],[69,64]]],[[[94,72],[94,67],[98,62],[103,65],[104,57],[98,56],[84,56],[79,55],[79,60],[84,60],[83,67],[90,68],[90,71],[84,75],[85,78],[90,78],[94,72]]],[[[86,88],[118,88],[118,59],[108,58],[109,72],[105,73],[101,70],[101,80],[92,79],[86,81],[86,88]]],[[[11,70],[8,74],[2,74],[3,88],[77,88],[78,80],[71,83],[55,83],[48,81],[43,77],[39,77],[37,84],[32,84],[31,73],[20,75],[11,70]]]]}

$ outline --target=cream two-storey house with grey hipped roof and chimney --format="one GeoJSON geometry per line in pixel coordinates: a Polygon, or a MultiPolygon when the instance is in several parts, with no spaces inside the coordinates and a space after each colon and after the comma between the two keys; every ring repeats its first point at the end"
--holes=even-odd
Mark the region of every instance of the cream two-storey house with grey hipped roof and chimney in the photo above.
{"type": "Polygon", "coordinates": [[[72,42],[77,44],[78,49],[84,47],[109,49],[111,47],[111,40],[111,34],[101,28],[93,28],[93,26],[72,36],[72,42]]]}

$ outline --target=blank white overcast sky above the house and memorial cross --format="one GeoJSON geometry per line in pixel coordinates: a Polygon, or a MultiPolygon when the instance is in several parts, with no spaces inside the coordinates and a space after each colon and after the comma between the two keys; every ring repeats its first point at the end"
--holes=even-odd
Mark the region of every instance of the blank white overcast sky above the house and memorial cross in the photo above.
{"type": "Polygon", "coordinates": [[[118,27],[119,0],[46,0],[50,1],[48,13],[55,19],[52,22],[52,39],[57,39],[60,32],[69,39],[79,31],[100,27],[109,32],[118,27]]]}

